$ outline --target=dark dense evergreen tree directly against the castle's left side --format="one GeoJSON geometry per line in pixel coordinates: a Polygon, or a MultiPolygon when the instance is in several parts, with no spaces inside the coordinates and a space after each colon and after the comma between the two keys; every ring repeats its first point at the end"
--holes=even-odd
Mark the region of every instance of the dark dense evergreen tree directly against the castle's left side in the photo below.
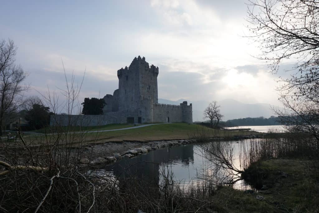
{"type": "Polygon", "coordinates": [[[103,107],[106,105],[103,98],[85,98],[83,105],[82,114],[84,115],[102,115],[103,107]]]}

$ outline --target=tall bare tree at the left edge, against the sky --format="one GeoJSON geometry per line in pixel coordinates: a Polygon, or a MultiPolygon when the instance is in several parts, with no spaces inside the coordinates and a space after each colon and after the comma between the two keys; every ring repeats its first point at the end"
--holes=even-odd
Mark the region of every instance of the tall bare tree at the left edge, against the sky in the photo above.
{"type": "Polygon", "coordinates": [[[12,40],[0,41],[0,135],[5,125],[5,115],[16,111],[22,103],[22,93],[28,86],[20,65],[15,65],[17,47],[12,40]]]}

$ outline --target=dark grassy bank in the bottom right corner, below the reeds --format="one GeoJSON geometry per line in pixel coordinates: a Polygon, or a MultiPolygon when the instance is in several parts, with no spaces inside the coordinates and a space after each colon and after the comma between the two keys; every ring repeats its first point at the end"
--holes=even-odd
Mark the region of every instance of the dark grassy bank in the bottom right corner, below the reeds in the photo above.
{"type": "MultiPolygon", "coordinates": [[[[269,189],[264,196],[263,212],[318,212],[318,166],[316,161],[307,159],[271,159],[262,161],[259,167],[266,172],[263,185],[269,189]],[[314,166],[316,165],[316,166],[314,166]],[[285,172],[286,178],[281,174],[285,172]]],[[[250,195],[254,199],[256,193],[250,195]]],[[[256,200],[256,199],[255,199],[256,200]]]]}

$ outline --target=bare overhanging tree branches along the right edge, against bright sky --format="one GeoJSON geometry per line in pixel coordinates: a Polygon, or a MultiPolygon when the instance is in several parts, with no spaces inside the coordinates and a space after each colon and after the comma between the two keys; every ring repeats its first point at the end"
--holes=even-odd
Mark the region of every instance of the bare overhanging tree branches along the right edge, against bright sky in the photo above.
{"type": "MultiPolygon", "coordinates": [[[[319,1],[256,0],[248,4],[250,36],[259,43],[264,59],[277,73],[279,65],[294,58],[289,78],[277,88],[285,110],[276,110],[291,131],[319,141],[319,1]]],[[[318,146],[317,146],[318,147],[318,146]]]]}

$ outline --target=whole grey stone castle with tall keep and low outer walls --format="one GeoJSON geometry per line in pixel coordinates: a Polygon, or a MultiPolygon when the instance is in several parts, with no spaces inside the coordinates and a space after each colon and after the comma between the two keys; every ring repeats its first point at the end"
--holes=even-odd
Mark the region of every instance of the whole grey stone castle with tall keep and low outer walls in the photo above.
{"type": "MultiPolygon", "coordinates": [[[[129,67],[117,71],[119,88],[105,95],[103,115],[71,116],[74,125],[99,126],[119,123],[192,123],[192,104],[158,103],[157,76],[159,68],[149,66],[145,57],[135,57],[129,67]]],[[[70,116],[59,115],[56,121],[64,126],[70,116]]],[[[56,121],[52,121],[55,125],[56,121]]]]}

